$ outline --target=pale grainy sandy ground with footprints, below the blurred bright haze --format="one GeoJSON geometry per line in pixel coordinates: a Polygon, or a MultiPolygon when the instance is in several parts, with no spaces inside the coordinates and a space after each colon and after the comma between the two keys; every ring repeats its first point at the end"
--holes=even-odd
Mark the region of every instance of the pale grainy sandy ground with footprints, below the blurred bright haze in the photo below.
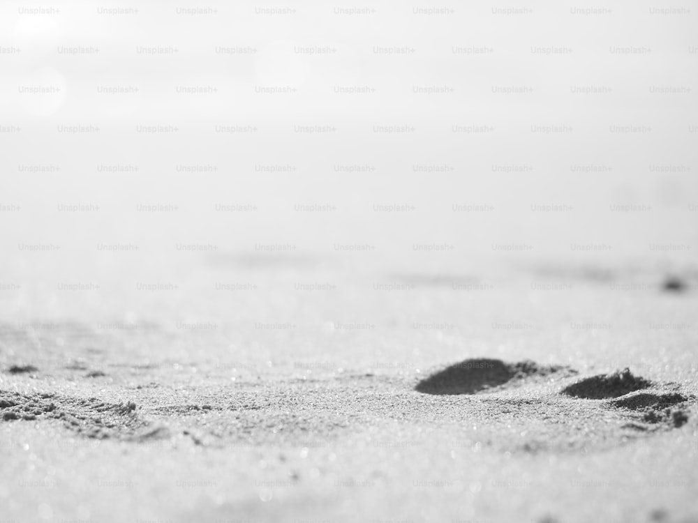
{"type": "Polygon", "coordinates": [[[698,521],[695,274],[205,260],[8,314],[2,522],[698,521]]]}

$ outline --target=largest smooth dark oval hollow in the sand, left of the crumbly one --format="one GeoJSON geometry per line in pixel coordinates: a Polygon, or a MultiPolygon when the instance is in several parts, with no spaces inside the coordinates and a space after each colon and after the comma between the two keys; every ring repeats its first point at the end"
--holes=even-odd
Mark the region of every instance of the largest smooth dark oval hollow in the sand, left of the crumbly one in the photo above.
{"type": "Polygon", "coordinates": [[[575,371],[562,365],[539,365],[534,361],[505,363],[501,360],[477,358],[456,363],[423,379],[415,390],[425,394],[475,394],[532,376],[575,371]]]}

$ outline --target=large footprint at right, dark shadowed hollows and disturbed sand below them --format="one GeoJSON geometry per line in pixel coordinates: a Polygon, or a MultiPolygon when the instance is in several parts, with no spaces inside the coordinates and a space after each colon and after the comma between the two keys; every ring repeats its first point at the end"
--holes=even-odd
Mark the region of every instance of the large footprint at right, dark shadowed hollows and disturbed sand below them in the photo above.
{"type": "Polygon", "coordinates": [[[459,409],[463,419],[482,423],[479,432],[487,444],[526,453],[607,448],[641,434],[672,430],[688,422],[696,399],[679,392],[674,384],[635,376],[627,368],[577,379],[557,392],[550,390],[549,380],[536,379],[563,380],[573,374],[577,371],[562,365],[470,359],[419,381],[415,390],[430,395],[477,395],[449,406],[459,409]],[[527,387],[526,393],[501,394],[522,386],[527,387]]]}

